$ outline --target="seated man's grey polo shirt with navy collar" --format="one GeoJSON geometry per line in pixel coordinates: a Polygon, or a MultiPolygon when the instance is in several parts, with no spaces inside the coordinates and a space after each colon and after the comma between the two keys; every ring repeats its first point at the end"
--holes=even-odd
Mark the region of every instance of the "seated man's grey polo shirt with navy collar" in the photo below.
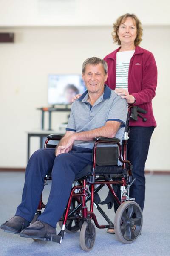
{"type": "MultiPolygon", "coordinates": [[[[107,121],[119,121],[121,126],[115,137],[122,143],[127,117],[127,103],[114,90],[105,85],[104,93],[93,106],[88,100],[88,91],[71,105],[70,118],[66,131],[89,131],[105,125],[107,121]]],[[[93,148],[94,141],[75,140],[74,145],[83,148],[93,148]]],[[[103,145],[103,144],[101,144],[103,145]]],[[[108,146],[108,144],[106,144],[108,146]]]]}

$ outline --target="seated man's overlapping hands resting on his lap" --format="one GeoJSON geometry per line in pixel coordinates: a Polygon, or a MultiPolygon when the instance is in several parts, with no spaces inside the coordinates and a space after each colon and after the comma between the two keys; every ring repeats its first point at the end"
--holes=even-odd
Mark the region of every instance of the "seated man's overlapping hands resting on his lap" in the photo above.
{"type": "Polygon", "coordinates": [[[71,134],[71,135],[68,135],[66,134],[59,142],[59,144],[57,145],[56,147],[56,150],[55,150],[55,155],[56,157],[59,155],[59,154],[62,154],[62,153],[68,153],[72,146],[73,146],[73,143],[74,143],[74,133],[71,134]]]}

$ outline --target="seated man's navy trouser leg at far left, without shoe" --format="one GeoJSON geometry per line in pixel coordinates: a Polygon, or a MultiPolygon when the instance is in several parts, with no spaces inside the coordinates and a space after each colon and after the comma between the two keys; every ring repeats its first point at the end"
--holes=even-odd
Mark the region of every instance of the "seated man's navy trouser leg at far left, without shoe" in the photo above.
{"type": "Polygon", "coordinates": [[[40,149],[31,156],[26,168],[22,201],[15,215],[32,221],[44,188],[45,175],[52,170],[54,159],[55,148],[40,149]]]}

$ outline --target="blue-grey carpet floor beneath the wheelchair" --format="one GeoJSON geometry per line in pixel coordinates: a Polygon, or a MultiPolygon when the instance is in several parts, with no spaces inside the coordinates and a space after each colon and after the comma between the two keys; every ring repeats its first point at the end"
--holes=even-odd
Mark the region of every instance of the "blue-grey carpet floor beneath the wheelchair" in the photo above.
{"type": "MultiPolygon", "coordinates": [[[[22,172],[0,172],[0,224],[15,214],[20,204],[25,174],[22,172]]],[[[0,230],[0,256],[167,256],[170,255],[170,175],[146,176],[146,201],[143,212],[142,235],[133,244],[116,241],[115,235],[96,228],[96,241],[90,252],[82,251],[79,245],[79,231],[65,233],[62,244],[35,242],[18,235],[0,230]]],[[[46,203],[50,182],[43,192],[46,203]]],[[[100,192],[101,198],[107,195],[107,188],[100,192]]],[[[113,220],[113,210],[108,210],[113,220]]],[[[96,211],[95,211],[96,212],[96,211]]],[[[99,224],[106,224],[96,212],[99,224]]],[[[57,232],[59,232],[57,225],[57,232]]]]}

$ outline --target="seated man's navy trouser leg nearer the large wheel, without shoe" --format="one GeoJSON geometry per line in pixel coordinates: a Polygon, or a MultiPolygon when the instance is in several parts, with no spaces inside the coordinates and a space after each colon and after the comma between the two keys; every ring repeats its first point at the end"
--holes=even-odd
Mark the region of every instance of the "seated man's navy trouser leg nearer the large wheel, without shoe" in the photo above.
{"type": "Polygon", "coordinates": [[[38,217],[52,227],[61,218],[71,191],[75,176],[87,165],[92,164],[92,153],[59,154],[54,160],[51,191],[44,212],[38,217]]]}

